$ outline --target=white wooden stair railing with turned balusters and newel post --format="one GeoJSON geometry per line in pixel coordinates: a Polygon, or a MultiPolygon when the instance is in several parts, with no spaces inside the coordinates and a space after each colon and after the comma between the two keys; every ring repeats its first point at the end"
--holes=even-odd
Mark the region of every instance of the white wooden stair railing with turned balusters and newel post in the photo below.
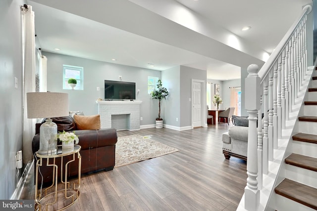
{"type": "Polygon", "coordinates": [[[312,5],[303,8],[302,15],[260,71],[255,64],[247,69],[245,107],[249,113],[249,133],[244,209],[248,211],[265,207],[259,208],[263,175],[269,173],[268,161],[274,159],[273,150],[278,148],[278,139],[282,137],[282,129],[289,120],[307,71],[306,21],[311,11],[312,5]],[[262,113],[263,124],[260,121],[262,113]]]}

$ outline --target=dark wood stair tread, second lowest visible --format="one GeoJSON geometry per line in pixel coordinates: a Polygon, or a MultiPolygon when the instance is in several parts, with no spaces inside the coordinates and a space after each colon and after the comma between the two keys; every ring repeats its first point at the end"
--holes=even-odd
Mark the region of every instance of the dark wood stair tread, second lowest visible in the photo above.
{"type": "Polygon", "coordinates": [[[285,158],[285,163],[303,169],[317,171],[317,158],[293,153],[285,158]]]}

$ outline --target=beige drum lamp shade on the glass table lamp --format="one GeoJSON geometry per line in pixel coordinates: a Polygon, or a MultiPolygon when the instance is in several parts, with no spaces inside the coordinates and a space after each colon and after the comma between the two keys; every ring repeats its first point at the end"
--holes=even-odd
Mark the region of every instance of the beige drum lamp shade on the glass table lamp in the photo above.
{"type": "Polygon", "coordinates": [[[53,118],[69,115],[68,94],[60,92],[29,92],[27,97],[28,118],[53,118]]]}

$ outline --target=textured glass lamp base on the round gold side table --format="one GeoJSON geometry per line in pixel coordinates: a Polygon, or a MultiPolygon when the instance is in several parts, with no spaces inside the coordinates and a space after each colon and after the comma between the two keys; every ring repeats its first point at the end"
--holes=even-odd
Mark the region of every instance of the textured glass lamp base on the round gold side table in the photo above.
{"type": "Polygon", "coordinates": [[[57,152],[57,125],[52,119],[47,119],[40,127],[39,154],[53,154],[57,152]]]}

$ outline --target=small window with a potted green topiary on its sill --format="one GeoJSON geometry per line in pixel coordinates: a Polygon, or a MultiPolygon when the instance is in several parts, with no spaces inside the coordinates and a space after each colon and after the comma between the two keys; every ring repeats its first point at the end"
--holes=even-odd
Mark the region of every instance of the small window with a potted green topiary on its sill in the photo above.
{"type": "Polygon", "coordinates": [[[77,80],[77,85],[74,89],[84,90],[83,72],[83,67],[63,65],[63,89],[71,89],[68,85],[68,79],[72,78],[77,80]]]}

